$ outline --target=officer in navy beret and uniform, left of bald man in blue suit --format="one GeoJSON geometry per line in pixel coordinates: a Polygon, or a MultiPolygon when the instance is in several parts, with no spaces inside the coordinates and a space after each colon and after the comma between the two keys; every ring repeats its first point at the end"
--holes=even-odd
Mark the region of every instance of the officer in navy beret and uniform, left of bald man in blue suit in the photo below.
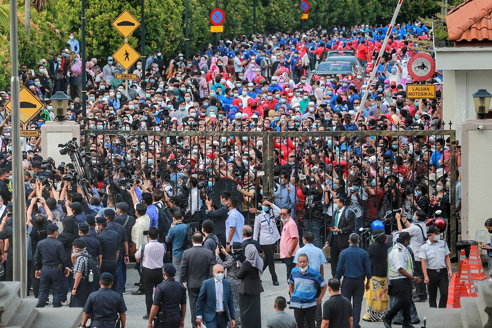
{"type": "Polygon", "coordinates": [[[174,279],[175,275],[176,268],[167,263],[164,266],[164,282],[155,288],[148,328],[184,327],[186,288],[174,279]]]}

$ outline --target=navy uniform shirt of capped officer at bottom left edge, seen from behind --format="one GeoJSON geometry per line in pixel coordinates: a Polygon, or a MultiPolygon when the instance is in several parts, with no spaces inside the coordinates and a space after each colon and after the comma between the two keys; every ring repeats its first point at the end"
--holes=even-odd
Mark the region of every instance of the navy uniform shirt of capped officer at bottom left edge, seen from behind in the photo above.
{"type": "Polygon", "coordinates": [[[124,312],[126,305],[123,295],[105,287],[91,293],[84,306],[84,313],[91,315],[90,327],[114,328],[119,313],[124,312]]]}

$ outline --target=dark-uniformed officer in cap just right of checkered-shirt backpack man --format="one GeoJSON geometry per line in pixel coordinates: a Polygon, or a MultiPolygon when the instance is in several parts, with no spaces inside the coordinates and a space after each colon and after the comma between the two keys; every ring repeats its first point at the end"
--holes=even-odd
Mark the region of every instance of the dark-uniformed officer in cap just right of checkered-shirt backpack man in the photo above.
{"type": "Polygon", "coordinates": [[[116,275],[116,259],[120,253],[120,235],[107,227],[106,218],[103,216],[96,218],[95,228],[97,231],[96,238],[101,242],[102,249],[101,272],[111,273],[114,279],[111,289],[119,292],[121,288],[116,275]]]}

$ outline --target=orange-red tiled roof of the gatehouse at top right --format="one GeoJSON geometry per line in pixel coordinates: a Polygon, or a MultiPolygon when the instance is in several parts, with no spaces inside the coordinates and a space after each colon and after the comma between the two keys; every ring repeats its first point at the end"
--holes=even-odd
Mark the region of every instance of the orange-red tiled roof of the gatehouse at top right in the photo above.
{"type": "Polygon", "coordinates": [[[461,3],[446,17],[449,39],[492,40],[491,13],[491,0],[467,0],[461,3]]]}

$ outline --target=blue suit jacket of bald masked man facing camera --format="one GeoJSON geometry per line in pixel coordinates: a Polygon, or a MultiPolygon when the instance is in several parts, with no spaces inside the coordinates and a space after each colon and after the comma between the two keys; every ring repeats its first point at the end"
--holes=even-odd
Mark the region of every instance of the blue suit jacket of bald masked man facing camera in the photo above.
{"type": "MultiPolygon", "coordinates": [[[[231,283],[227,279],[222,279],[224,295],[222,297],[225,313],[229,320],[236,319],[236,309],[234,307],[234,296],[231,283]]],[[[196,299],[196,315],[202,316],[202,321],[211,322],[215,318],[215,278],[207,279],[200,288],[200,293],[196,299]]]]}

